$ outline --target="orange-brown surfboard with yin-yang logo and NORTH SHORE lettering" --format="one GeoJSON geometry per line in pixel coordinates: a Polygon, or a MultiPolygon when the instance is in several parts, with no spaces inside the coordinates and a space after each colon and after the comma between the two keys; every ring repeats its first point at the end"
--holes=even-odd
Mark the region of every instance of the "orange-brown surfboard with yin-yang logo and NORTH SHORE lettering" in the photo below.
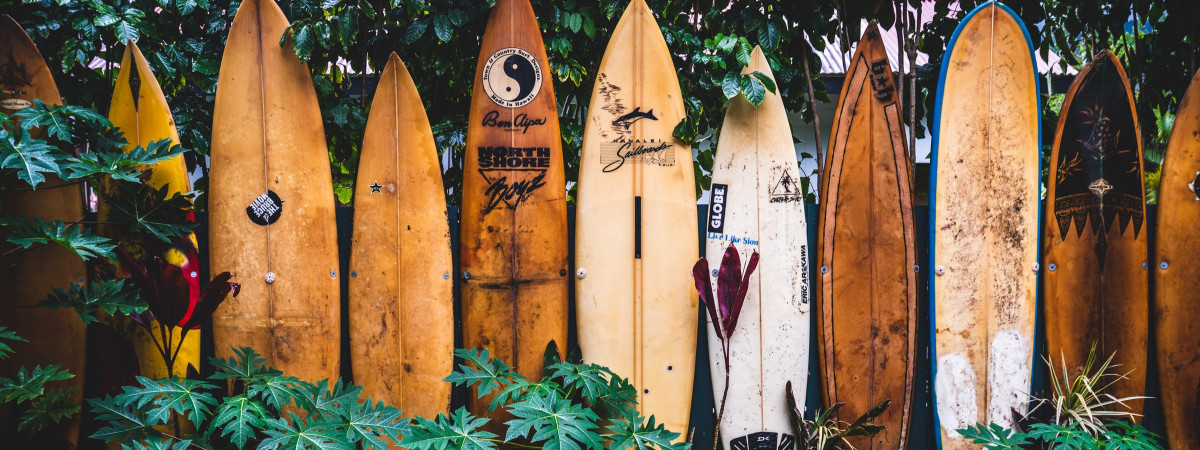
{"type": "MultiPolygon", "coordinates": [[[[550,62],[529,0],[492,7],[462,182],[462,342],[533,379],[566,347],[566,188],[550,62]]],[[[485,415],[490,398],[470,410],[485,415]]]]}

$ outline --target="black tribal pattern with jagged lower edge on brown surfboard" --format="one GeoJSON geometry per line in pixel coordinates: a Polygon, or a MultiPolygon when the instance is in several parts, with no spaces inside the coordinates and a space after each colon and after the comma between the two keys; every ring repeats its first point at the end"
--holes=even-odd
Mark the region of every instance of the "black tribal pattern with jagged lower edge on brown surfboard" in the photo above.
{"type": "Polygon", "coordinates": [[[1055,179],[1055,221],[1062,239],[1082,236],[1091,226],[1098,236],[1096,256],[1103,266],[1108,253],[1108,230],[1114,222],[1124,235],[1133,223],[1138,238],[1144,221],[1141,151],[1117,66],[1108,58],[1079,83],[1070,109],[1066,112],[1055,179]]]}

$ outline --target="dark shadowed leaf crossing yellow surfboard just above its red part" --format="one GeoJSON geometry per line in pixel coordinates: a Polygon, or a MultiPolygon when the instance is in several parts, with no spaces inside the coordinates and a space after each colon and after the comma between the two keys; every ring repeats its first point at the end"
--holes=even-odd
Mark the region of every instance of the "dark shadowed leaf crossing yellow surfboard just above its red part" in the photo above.
{"type": "Polygon", "coordinates": [[[199,224],[187,220],[192,212],[192,193],[170,192],[169,185],[155,190],[132,182],[118,184],[115,194],[101,193],[112,205],[108,221],[133,233],[146,233],[163,242],[185,236],[199,224]]]}

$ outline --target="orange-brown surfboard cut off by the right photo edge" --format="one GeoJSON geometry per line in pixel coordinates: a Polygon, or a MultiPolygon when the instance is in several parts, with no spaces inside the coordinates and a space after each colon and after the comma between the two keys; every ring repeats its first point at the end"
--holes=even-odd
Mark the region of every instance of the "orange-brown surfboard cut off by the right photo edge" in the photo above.
{"type": "Polygon", "coordinates": [[[1166,144],[1154,238],[1154,331],[1166,440],[1200,448],[1200,76],[1192,77],[1166,144]]]}

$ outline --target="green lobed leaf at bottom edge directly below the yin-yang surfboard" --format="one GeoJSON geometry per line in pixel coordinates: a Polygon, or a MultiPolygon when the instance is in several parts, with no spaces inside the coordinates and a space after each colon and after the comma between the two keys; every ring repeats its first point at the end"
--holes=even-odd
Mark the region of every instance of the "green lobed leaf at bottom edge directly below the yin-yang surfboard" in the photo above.
{"type": "Polygon", "coordinates": [[[594,428],[600,418],[593,410],[560,398],[557,391],[535,394],[509,407],[516,419],[509,420],[504,440],[532,437],[545,450],[601,449],[594,428]]]}

